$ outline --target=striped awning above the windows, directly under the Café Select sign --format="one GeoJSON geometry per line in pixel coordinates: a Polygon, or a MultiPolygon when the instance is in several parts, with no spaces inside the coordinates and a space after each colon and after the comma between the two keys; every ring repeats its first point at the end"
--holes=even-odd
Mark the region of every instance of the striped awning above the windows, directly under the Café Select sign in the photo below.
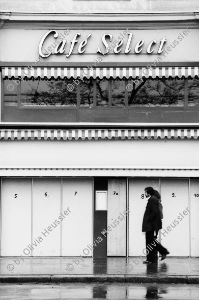
{"type": "Polygon", "coordinates": [[[73,67],[5,67],[2,68],[3,78],[169,78],[199,77],[198,67],[110,67],[110,68],[73,68],[73,67]]]}

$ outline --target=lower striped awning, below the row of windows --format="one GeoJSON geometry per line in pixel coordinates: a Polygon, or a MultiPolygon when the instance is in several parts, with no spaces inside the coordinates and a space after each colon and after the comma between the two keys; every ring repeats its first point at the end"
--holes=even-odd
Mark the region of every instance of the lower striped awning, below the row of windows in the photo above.
{"type": "Polygon", "coordinates": [[[0,130],[1,140],[198,139],[199,129],[0,130]]]}

